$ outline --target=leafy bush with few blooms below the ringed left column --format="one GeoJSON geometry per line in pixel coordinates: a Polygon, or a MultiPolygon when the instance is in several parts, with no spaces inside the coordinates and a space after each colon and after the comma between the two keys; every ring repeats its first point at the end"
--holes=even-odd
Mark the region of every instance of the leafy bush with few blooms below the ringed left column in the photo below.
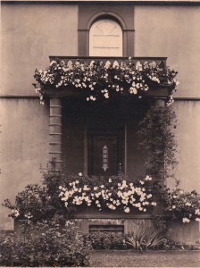
{"type": "MultiPolygon", "coordinates": [[[[4,206],[11,209],[9,215],[13,219],[40,222],[50,221],[54,215],[60,215],[60,220],[67,221],[66,209],[59,197],[60,183],[67,183],[74,177],[65,177],[62,172],[57,174],[43,172],[42,185],[29,184],[15,197],[14,204],[9,199],[4,200],[4,206]]],[[[71,205],[71,213],[75,210],[71,205]]],[[[62,222],[61,222],[62,223],[62,222]]]]}

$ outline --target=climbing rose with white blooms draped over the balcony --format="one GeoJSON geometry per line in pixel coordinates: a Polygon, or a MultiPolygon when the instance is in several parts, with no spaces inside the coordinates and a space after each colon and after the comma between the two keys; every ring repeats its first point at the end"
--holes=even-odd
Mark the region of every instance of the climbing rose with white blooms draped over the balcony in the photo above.
{"type": "Polygon", "coordinates": [[[63,60],[52,61],[45,70],[35,71],[33,84],[40,96],[40,103],[44,104],[46,92],[49,88],[59,90],[66,86],[87,89],[87,101],[108,99],[112,95],[133,95],[141,98],[146,91],[154,86],[170,88],[168,104],[173,102],[172,93],[176,91],[179,81],[176,80],[177,71],[171,71],[162,64],[135,64],[131,57],[129,63],[109,64],[101,61],[80,63],[79,60],[67,66],[63,60]]]}

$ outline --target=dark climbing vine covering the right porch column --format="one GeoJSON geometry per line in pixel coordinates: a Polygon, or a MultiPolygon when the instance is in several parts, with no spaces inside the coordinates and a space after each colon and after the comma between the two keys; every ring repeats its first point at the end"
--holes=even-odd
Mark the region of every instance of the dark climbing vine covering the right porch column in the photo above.
{"type": "Polygon", "coordinates": [[[162,165],[165,178],[173,177],[177,164],[177,142],[173,131],[177,126],[176,114],[167,105],[151,107],[139,126],[139,147],[145,153],[146,174],[161,179],[162,165]]]}

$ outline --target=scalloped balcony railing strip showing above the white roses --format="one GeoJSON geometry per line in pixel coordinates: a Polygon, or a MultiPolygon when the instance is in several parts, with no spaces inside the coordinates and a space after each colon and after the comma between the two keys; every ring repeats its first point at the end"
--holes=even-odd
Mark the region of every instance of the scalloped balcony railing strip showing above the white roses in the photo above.
{"type": "MultiPolygon", "coordinates": [[[[87,63],[90,64],[93,61],[103,62],[104,65],[121,65],[121,64],[129,64],[129,57],[87,57],[87,56],[49,56],[50,61],[61,61],[70,68],[72,64],[75,64],[79,61],[79,63],[87,63]]],[[[160,66],[162,68],[166,67],[167,57],[132,57],[132,62],[137,66],[137,64],[146,64],[152,63],[154,67],[160,66]]]]}

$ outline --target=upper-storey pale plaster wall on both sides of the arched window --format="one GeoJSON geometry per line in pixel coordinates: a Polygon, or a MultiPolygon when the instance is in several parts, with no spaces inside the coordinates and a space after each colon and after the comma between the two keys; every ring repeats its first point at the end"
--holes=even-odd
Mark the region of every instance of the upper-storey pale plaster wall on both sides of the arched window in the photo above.
{"type": "MultiPolygon", "coordinates": [[[[77,4],[2,4],[1,94],[32,94],[49,55],[78,55],[77,4]],[[10,19],[12,18],[12,20],[10,19]]],[[[167,56],[177,96],[198,96],[200,6],[135,5],[135,56],[167,56]]]]}

